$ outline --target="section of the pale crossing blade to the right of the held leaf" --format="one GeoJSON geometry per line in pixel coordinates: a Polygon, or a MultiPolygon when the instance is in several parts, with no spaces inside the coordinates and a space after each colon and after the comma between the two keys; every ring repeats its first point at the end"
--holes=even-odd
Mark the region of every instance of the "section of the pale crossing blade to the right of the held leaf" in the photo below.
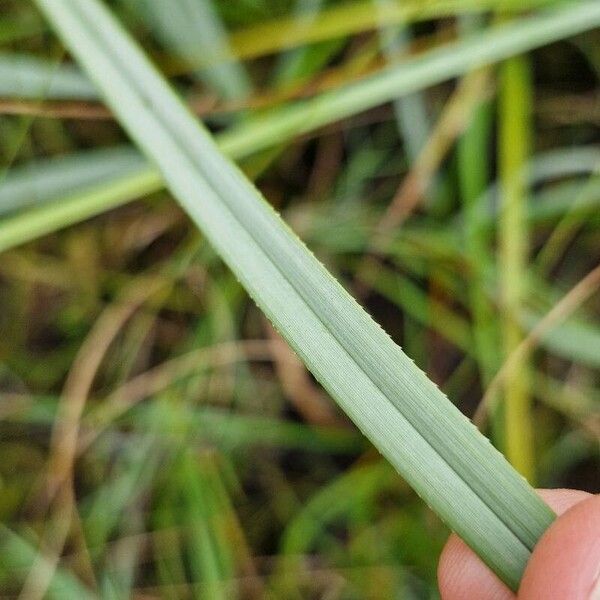
{"type": "Polygon", "coordinates": [[[600,25],[600,4],[580,2],[562,10],[492,27],[478,35],[436,48],[400,67],[341,90],[324,93],[249,121],[221,137],[222,148],[234,156],[312,131],[333,121],[388,102],[399,95],[447,81],[551,41],[600,25]]]}

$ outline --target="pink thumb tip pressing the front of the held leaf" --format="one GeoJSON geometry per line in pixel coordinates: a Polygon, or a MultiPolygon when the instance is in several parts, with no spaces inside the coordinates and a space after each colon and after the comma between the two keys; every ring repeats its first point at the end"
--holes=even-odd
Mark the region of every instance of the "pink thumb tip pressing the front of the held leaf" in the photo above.
{"type": "Polygon", "coordinates": [[[519,600],[600,600],[600,496],[562,514],[525,569],[519,600]]]}

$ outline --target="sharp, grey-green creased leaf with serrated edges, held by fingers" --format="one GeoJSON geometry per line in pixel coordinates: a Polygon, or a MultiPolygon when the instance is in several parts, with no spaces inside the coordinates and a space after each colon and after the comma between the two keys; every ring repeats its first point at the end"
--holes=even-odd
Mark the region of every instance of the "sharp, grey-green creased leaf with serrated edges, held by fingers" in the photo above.
{"type": "Polygon", "coordinates": [[[110,12],[96,0],[37,4],[173,195],[325,389],[516,589],[552,511],[222,155],[110,12]]]}

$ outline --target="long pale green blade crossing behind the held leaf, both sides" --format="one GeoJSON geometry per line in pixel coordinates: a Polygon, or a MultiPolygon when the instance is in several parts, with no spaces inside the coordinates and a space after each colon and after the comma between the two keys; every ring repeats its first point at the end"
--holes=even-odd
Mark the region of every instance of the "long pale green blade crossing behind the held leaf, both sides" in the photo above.
{"type": "MultiPolygon", "coordinates": [[[[560,11],[535,15],[515,24],[488,29],[408,60],[353,86],[292,104],[283,111],[269,112],[249,125],[235,126],[217,136],[217,141],[225,154],[241,159],[344,115],[356,114],[450,79],[478,64],[503,60],[598,25],[600,4],[584,2],[560,11]],[[338,108],[344,108],[343,112],[338,108]]],[[[79,200],[75,193],[66,198],[58,214],[49,207],[45,213],[36,211],[31,219],[29,215],[22,215],[2,223],[0,251],[157,191],[162,185],[160,174],[149,164],[132,173],[129,180],[107,177],[104,188],[80,190],[79,200]],[[93,201],[90,201],[90,195],[93,201]]]]}

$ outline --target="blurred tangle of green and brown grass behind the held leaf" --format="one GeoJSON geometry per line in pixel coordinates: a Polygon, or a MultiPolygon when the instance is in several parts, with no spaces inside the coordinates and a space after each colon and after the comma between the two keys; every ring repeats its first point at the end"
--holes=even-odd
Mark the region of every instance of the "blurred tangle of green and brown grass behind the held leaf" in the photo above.
{"type": "MultiPolygon", "coordinates": [[[[576,2],[110,4],[532,483],[600,491],[598,29],[343,120],[334,104],[576,2]],[[320,94],[318,129],[251,137],[320,94]]],[[[161,191],[31,3],[0,0],[0,43],[2,595],[435,598],[445,528],[161,191]]]]}

